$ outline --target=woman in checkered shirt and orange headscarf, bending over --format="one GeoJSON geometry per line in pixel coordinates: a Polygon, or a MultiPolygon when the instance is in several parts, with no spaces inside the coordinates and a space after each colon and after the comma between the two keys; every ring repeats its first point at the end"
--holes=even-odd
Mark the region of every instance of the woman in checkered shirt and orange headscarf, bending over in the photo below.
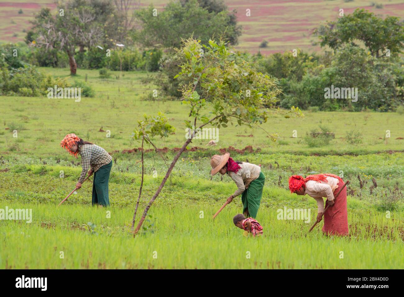
{"type": "Polygon", "coordinates": [[[109,206],[108,181],[112,168],[112,157],[102,147],[94,143],[83,141],[76,134],[71,133],[65,136],[60,143],[69,154],[75,156],[80,154],[82,171],[76,187],[80,189],[86,174],[93,175],[93,205],[109,206]],[[87,172],[88,171],[88,172],[87,172]]]}

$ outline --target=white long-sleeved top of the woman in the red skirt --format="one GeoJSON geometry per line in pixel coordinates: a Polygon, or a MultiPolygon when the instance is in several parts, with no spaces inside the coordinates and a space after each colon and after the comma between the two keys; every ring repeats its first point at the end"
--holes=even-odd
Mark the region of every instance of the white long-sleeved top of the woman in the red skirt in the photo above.
{"type": "Polygon", "coordinates": [[[305,194],[313,197],[317,201],[318,213],[324,211],[323,197],[327,197],[327,200],[334,200],[333,192],[338,187],[339,179],[331,176],[327,176],[327,181],[306,181],[305,194]]]}

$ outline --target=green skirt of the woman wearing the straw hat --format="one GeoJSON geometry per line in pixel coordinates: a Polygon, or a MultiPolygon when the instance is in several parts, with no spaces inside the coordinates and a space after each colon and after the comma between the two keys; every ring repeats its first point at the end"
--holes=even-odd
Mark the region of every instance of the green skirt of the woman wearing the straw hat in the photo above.
{"type": "Polygon", "coordinates": [[[261,203],[262,190],[265,184],[265,175],[261,172],[257,179],[254,179],[248,188],[241,195],[243,202],[243,213],[248,217],[257,217],[259,204],[261,203]],[[248,209],[248,213],[246,212],[248,209]]]}

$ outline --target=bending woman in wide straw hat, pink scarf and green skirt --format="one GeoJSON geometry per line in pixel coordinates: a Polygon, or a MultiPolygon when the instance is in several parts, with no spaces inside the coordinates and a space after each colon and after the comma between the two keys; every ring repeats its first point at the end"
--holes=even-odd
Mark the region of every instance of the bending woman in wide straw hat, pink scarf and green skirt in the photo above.
{"type": "Polygon", "coordinates": [[[236,192],[227,198],[227,202],[230,203],[234,197],[241,194],[244,216],[257,217],[265,183],[261,167],[247,162],[236,162],[230,158],[229,153],[213,156],[210,159],[210,166],[212,166],[211,175],[218,172],[222,175],[227,173],[237,185],[236,192]]]}

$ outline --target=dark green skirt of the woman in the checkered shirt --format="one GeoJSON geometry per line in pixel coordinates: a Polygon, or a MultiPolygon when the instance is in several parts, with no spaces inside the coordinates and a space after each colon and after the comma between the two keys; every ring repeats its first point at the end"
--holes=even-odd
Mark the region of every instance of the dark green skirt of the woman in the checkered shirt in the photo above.
{"type": "Polygon", "coordinates": [[[99,204],[109,206],[108,182],[111,172],[112,161],[107,165],[101,166],[94,173],[93,179],[93,205],[99,204]]]}

